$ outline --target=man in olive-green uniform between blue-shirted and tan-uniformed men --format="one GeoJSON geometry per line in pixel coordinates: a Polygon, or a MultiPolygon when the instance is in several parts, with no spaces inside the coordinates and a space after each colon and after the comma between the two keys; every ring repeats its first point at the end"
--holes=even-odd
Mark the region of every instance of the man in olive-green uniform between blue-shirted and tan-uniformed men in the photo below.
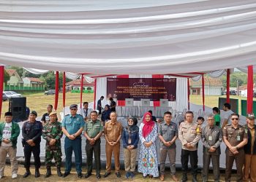
{"type": "Polygon", "coordinates": [[[84,136],[86,137],[86,163],[87,173],[84,178],[89,178],[92,172],[92,156],[94,154],[96,177],[101,178],[100,175],[100,136],[102,135],[103,125],[97,119],[97,111],[91,111],[91,119],[86,122],[84,127],[84,136]]]}

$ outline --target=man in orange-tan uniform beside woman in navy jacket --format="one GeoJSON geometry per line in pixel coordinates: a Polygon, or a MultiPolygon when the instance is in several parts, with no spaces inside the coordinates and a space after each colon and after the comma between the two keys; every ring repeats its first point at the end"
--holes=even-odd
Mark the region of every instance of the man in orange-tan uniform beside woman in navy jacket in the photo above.
{"type": "Polygon", "coordinates": [[[120,122],[116,121],[116,112],[110,113],[110,121],[106,122],[104,128],[104,135],[106,138],[106,173],[104,178],[106,178],[111,173],[111,157],[112,152],[114,153],[115,158],[115,170],[116,176],[121,178],[121,174],[119,173],[120,169],[120,162],[119,162],[119,155],[120,155],[120,139],[121,139],[121,132],[123,127],[120,122]]]}

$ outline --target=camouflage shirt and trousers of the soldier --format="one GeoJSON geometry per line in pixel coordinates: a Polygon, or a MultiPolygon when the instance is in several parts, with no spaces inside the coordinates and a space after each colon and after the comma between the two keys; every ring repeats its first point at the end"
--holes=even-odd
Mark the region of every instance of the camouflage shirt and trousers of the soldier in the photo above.
{"type": "Polygon", "coordinates": [[[46,122],[42,130],[42,138],[46,140],[45,143],[45,165],[51,166],[54,158],[56,166],[61,167],[61,137],[63,132],[61,130],[60,122],[46,122]],[[56,139],[56,143],[50,146],[50,139],[56,139]]]}

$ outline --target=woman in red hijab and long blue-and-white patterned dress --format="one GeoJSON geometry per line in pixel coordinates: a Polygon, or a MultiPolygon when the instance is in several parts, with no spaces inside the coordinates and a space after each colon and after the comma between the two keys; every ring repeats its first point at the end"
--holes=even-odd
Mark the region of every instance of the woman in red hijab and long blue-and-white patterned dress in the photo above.
{"type": "Polygon", "coordinates": [[[146,112],[143,116],[143,122],[139,128],[140,137],[140,160],[138,172],[143,173],[143,177],[158,177],[157,164],[157,124],[152,121],[151,114],[146,112]]]}

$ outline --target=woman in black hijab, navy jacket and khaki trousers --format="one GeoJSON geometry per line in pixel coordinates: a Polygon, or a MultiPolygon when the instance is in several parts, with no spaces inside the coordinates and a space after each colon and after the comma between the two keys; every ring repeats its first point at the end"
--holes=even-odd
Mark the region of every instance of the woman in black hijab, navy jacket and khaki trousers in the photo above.
{"type": "Polygon", "coordinates": [[[124,146],[124,168],[126,178],[135,177],[135,165],[137,157],[137,148],[139,143],[139,127],[138,120],[135,117],[129,117],[127,127],[122,132],[122,140],[124,146]]]}

